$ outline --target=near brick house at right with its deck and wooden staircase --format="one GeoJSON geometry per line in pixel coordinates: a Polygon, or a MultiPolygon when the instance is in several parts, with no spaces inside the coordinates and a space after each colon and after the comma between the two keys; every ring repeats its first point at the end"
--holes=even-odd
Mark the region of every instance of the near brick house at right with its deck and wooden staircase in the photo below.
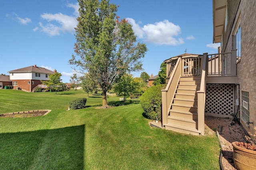
{"type": "MultiPolygon", "coordinates": [[[[212,0],[217,54],[166,60],[162,126],[204,135],[204,116],[230,117],[254,134],[256,126],[256,1],[212,0]]],[[[203,29],[203,28],[202,28],[203,29]]]]}

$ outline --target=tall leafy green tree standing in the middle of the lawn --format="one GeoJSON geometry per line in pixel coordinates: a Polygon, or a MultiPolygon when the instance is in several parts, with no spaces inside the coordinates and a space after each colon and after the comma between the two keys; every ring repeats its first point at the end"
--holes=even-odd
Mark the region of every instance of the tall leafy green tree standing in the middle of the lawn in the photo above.
{"type": "Polygon", "coordinates": [[[141,58],[147,48],[137,43],[132,25],[119,21],[117,6],[109,0],[78,0],[75,54],[69,63],[87,72],[102,88],[102,107],[108,107],[106,92],[125,72],[142,70],[141,58]]]}

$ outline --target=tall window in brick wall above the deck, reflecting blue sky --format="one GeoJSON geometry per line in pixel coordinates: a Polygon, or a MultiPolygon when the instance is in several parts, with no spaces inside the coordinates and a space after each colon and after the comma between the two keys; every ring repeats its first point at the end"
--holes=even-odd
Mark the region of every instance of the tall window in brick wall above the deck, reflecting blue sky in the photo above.
{"type": "Polygon", "coordinates": [[[236,25],[236,29],[233,34],[233,49],[237,49],[236,51],[236,61],[241,59],[241,25],[240,25],[240,16],[238,19],[238,24],[236,25]]]}

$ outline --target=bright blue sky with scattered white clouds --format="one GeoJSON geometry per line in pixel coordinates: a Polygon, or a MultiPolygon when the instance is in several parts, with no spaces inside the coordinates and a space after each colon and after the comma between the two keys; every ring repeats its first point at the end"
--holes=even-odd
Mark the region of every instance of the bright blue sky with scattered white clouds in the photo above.
{"type": "MultiPolygon", "coordinates": [[[[132,25],[148,52],[144,71],[154,76],[160,64],[187,53],[217,53],[212,44],[211,0],[110,0],[117,15],[132,25]]],[[[68,64],[74,53],[77,0],[6,0],[0,6],[0,74],[36,64],[62,74],[69,82],[68,64]]],[[[141,72],[133,73],[140,76],[141,72]]]]}

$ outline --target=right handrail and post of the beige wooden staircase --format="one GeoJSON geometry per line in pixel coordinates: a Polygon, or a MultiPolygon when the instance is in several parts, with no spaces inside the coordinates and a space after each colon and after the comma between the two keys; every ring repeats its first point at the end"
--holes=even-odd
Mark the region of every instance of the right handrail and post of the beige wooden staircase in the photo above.
{"type": "Polygon", "coordinates": [[[205,91],[206,91],[206,62],[207,62],[208,53],[204,53],[202,59],[203,68],[202,68],[202,77],[200,90],[197,91],[198,96],[198,131],[201,132],[201,135],[204,135],[204,106],[205,106],[205,91]]]}

